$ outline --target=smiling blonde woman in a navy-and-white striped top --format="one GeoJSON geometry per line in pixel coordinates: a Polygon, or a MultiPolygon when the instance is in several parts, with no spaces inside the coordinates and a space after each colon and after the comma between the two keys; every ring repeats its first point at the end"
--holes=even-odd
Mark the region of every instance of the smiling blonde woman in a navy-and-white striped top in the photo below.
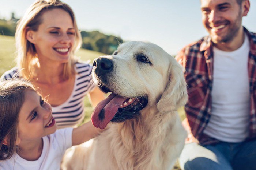
{"type": "Polygon", "coordinates": [[[17,63],[3,79],[29,80],[48,99],[59,128],[84,118],[84,96],[95,107],[105,95],[91,83],[92,66],[74,53],[82,39],[72,9],[59,0],[35,1],[19,21],[15,34],[17,63]]]}

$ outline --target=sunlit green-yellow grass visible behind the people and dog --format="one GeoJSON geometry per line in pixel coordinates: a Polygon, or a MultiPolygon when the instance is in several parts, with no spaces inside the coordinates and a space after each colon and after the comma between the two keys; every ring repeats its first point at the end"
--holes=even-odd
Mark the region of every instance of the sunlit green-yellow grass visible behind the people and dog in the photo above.
{"type": "MultiPolygon", "coordinates": [[[[90,63],[99,56],[105,55],[100,52],[95,52],[86,49],[80,49],[76,56],[79,56],[81,60],[87,61],[90,60],[90,63]]],[[[0,35],[0,75],[2,75],[5,71],[10,70],[12,67],[16,65],[15,61],[15,40],[12,36],[2,36],[0,35]]],[[[89,102],[89,99],[85,98],[85,118],[83,122],[87,122],[91,118],[91,113],[93,112],[93,108],[89,102]]],[[[184,108],[178,109],[178,113],[181,117],[181,120],[185,118],[184,108]]],[[[176,163],[173,170],[180,170],[178,163],[176,163]]]]}

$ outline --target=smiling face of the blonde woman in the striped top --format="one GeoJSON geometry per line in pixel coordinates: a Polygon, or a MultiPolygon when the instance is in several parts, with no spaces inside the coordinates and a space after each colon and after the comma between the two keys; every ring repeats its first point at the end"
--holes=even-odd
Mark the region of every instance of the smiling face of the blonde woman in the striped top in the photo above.
{"type": "Polygon", "coordinates": [[[26,35],[35,46],[39,62],[68,62],[76,36],[71,16],[56,8],[43,12],[41,20],[38,30],[29,30],[26,35]]]}

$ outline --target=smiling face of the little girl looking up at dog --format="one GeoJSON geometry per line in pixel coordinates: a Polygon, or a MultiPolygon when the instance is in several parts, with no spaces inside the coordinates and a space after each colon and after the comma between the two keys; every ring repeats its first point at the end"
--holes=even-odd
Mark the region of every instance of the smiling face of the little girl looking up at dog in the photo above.
{"type": "Polygon", "coordinates": [[[19,112],[18,138],[33,141],[52,134],[57,124],[52,117],[52,107],[33,90],[26,90],[25,100],[19,112]]]}

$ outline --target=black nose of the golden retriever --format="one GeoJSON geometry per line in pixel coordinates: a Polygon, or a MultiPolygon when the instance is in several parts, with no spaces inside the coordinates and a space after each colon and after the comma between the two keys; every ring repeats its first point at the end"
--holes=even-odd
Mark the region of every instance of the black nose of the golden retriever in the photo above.
{"type": "Polygon", "coordinates": [[[95,73],[100,76],[113,70],[113,62],[108,58],[99,57],[93,61],[95,73]]]}

